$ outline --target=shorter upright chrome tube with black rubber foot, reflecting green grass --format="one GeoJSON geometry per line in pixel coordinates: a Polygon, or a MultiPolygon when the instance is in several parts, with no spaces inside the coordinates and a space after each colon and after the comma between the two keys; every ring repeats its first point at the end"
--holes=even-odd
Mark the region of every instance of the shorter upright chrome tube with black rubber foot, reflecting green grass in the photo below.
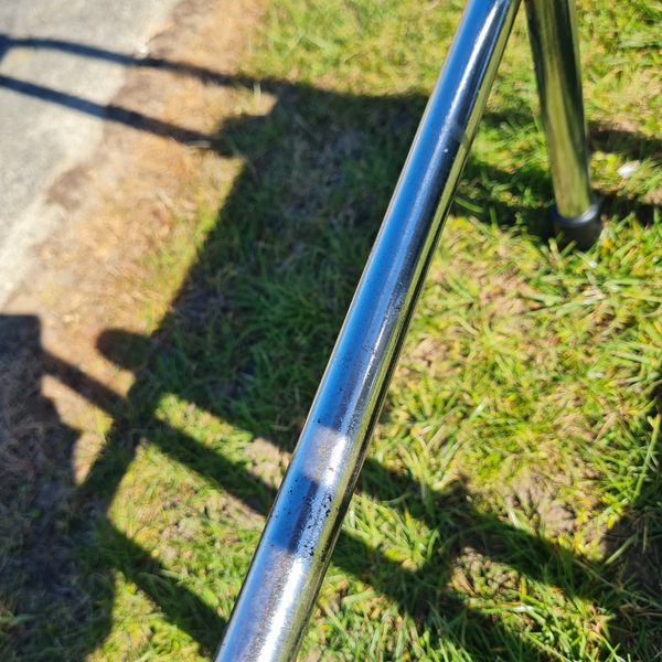
{"type": "Polygon", "coordinates": [[[556,197],[554,221],[568,238],[590,244],[599,235],[599,218],[588,174],[575,0],[525,4],[556,197]]]}

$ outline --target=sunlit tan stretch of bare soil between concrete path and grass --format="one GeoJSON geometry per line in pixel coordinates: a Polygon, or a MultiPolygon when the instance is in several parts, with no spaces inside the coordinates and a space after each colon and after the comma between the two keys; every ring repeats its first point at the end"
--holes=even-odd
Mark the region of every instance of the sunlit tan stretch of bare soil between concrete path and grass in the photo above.
{"type": "Polygon", "coordinates": [[[108,376],[99,331],[135,328],[143,302],[127,282],[143,275],[141,258],[168,241],[173,217],[213,207],[233,174],[207,148],[224,115],[242,110],[233,74],[260,11],[250,0],[182,2],[109,104],[97,154],[50,191],[67,222],[3,314],[38,314],[43,346],[88,374],[108,376]]]}

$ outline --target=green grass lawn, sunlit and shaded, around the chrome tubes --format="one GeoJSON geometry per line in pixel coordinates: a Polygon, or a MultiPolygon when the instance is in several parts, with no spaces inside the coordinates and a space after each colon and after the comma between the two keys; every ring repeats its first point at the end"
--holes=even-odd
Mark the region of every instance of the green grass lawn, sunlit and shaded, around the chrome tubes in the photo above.
{"type": "MultiPolygon", "coordinates": [[[[33,629],[0,612],[17,659],[211,656],[462,6],[270,3],[236,85],[277,103],[223,122],[242,173],[148,264],[145,289],[182,275],[170,312],[102,334],[137,377],[79,490],[81,606],[33,629]]],[[[519,18],[301,658],[662,650],[661,18],[579,2],[606,225],[587,254],[545,235],[519,18]]]]}

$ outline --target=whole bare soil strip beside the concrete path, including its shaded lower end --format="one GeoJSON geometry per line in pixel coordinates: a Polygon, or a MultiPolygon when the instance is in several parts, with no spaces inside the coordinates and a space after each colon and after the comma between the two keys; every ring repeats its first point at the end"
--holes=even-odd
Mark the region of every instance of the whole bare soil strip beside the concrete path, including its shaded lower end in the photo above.
{"type": "MultiPolygon", "coordinates": [[[[94,404],[126,394],[134,378],[97,340],[108,328],[146,332],[138,311],[168,309],[177,281],[148,295],[136,284],[145,259],[178,232],[177,220],[215,209],[232,180],[232,160],[209,148],[223,118],[245,109],[233,74],[261,11],[261,0],[178,7],[108,106],[96,156],[50,191],[67,221],[0,314],[3,660],[29,656],[43,618],[53,621],[50,606],[66,606],[62,631],[92,618],[68,549],[78,535],[74,511],[79,520],[95,504],[76,495],[76,484],[99,450],[104,414],[94,404]]],[[[84,655],[81,645],[67,659],[84,655]]]]}

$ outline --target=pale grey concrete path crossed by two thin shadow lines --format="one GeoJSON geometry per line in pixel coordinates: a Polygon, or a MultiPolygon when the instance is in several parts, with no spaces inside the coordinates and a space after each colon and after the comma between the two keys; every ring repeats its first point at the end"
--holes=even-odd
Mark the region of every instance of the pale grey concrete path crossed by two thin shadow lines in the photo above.
{"type": "Polygon", "coordinates": [[[104,106],[177,1],[0,2],[0,308],[65,221],[49,188],[94,153],[104,106]]]}

